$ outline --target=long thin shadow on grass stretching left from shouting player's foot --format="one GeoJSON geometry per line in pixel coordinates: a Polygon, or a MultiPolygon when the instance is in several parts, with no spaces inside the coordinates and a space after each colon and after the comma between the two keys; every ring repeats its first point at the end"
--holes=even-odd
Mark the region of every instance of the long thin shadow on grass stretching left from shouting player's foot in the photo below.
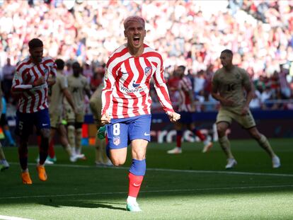
{"type": "MultiPolygon", "coordinates": [[[[48,199],[47,202],[38,202],[37,204],[42,204],[50,207],[79,207],[79,208],[90,208],[90,209],[115,209],[126,211],[125,208],[117,207],[121,206],[122,203],[115,202],[85,202],[85,201],[69,201],[69,200],[59,200],[59,199],[48,199]]],[[[124,204],[123,204],[124,205],[124,204]]],[[[125,204],[126,206],[126,204],[125,204]]]]}

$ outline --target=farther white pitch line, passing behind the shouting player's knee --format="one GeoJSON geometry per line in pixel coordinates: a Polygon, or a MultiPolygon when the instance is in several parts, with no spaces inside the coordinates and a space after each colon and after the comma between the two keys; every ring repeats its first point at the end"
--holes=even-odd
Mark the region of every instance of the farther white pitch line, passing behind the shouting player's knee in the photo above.
{"type": "MultiPolygon", "coordinates": [[[[18,164],[18,163],[11,163],[18,164]]],[[[35,166],[35,163],[28,163],[30,166],[35,166]]],[[[48,166],[67,167],[67,168],[96,168],[95,166],[87,165],[75,165],[75,164],[54,164],[48,166]]],[[[100,167],[100,168],[111,168],[111,169],[122,169],[128,170],[126,167],[100,167]]],[[[251,173],[251,172],[238,172],[238,171],[219,171],[219,170],[176,170],[176,169],[163,169],[163,168],[146,168],[151,171],[162,171],[162,172],[173,172],[173,173],[216,173],[216,174],[230,174],[230,175],[263,175],[263,176],[282,176],[282,177],[293,177],[293,174],[289,173],[251,173]]]]}

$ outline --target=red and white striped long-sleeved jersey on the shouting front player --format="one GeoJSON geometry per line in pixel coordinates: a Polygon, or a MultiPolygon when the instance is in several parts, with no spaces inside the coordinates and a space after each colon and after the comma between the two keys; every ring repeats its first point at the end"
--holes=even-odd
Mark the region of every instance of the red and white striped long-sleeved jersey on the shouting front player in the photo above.
{"type": "Polygon", "coordinates": [[[151,47],[144,45],[144,52],[133,57],[126,45],[110,56],[102,91],[102,115],[125,118],[151,113],[149,83],[151,76],[159,101],[165,112],[174,112],[163,76],[163,59],[151,47]]]}

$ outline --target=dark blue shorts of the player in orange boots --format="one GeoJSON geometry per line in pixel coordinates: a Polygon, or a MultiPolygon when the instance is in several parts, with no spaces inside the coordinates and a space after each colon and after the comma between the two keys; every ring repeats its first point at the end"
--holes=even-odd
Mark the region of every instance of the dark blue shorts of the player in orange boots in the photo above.
{"type": "Polygon", "coordinates": [[[50,129],[50,116],[48,109],[33,113],[16,112],[16,134],[20,137],[28,137],[33,134],[33,126],[37,130],[50,129]]]}

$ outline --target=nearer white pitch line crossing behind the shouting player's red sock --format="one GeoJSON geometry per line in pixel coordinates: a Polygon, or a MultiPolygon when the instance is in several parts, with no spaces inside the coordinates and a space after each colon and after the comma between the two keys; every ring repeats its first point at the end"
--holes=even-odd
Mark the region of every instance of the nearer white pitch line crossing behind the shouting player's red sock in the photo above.
{"type": "MultiPolygon", "coordinates": [[[[265,189],[265,188],[285,188],[293,187],[293,185],[256,185],[247,187],[215,187],[202,189],[174,189],[174,190],[142,190],[139,193],[153,193],[153,192],[195,192],[195,191],[210,191],[210,190],[249,190],[249,189],[265,189]]],[[[0,197],[0,199],[30,199],[30,198],[44,198],[44,197],[74,197],[86,195],[118,195],[127,194],[127,192],[93,192],[93,193],[79,193],[79,194],[64,194],[64,195],[32,195],[23,197],[0,197]]]]}

